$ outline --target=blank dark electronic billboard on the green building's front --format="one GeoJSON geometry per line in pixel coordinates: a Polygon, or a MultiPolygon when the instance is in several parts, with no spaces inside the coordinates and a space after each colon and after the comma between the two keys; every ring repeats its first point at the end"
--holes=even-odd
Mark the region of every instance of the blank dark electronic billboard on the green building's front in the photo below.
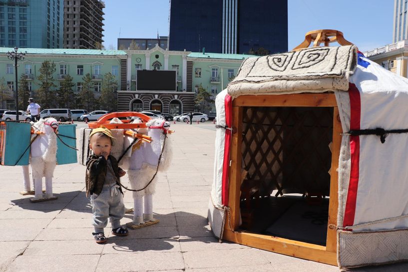
{"type": "Polygon", "coordinates": [[[137,70],[136,90],[142,91],[176,91],[177,79],[175,70],[137,70]]]}

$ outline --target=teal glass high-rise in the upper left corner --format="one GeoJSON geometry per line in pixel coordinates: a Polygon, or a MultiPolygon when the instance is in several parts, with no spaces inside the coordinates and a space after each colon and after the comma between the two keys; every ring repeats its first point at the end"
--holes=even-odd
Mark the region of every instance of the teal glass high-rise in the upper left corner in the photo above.
{"type": "Polygon", "coordinates": [[[0,46],[61,48],[63,0],[0,0],[0,46]]]}

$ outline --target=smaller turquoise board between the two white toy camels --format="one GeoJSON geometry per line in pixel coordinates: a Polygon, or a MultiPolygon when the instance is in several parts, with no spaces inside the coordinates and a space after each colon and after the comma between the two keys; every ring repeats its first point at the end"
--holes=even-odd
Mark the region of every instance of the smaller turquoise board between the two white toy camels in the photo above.
{"type": "Polygon", "coordinates": [[[76,148],[76,125],[75,124],[60,124],[58,126],[56,163],[69,164],[76,163],[76,150],[66,145],[76,148]],[[61,140],[66,144],[63,144],[61,140]]]}

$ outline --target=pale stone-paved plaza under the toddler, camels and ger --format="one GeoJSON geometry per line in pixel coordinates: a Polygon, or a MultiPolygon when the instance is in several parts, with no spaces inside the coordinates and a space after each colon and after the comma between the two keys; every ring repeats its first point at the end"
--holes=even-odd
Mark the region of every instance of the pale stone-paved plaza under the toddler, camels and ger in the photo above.
{"type": "MultiPolygon", "coordinates": [[[[84,123],[78,123],[83,127],[84,123]]],[[[94,242],[91,206],[85,197],[85,167],[57,166],[55,201],[30,203],[21,196],[22,169],[0,166],[0,272],[336,272],[337,267],[228,242],[219,243],[207,222],[213,180],[212,122],[172,124],[173,161],[159,175],[153,211],[159,224],[129,230],[127,237],[94,242]]],[[[122,182],[127,185],[127,176],[122,182]]],[[[126,206],[133,206],[125,192],[126,206]]],[[[125,215],[122,224],[131,222],[125,215]]],[[[109,226],[109,225],[108,225],[109,226]]],[[[407,272],[408,264],[354,272],[407,272]]]]}

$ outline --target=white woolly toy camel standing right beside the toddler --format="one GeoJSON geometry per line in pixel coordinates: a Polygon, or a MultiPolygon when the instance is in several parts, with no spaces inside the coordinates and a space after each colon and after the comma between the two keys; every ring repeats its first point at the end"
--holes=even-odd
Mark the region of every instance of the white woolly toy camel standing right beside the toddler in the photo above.
{"type": "MultiPolygon", "coordinates": [[[[133,121],[133,123],[139,122],[139,120],[133,121]]],[[[133,190],[140,190],[147,186],[141,191],[133,192],[133,223],[128,224],[129,227],[137,227],[145,223],[148,223],[146,225],[158,223],[153,218],[153,194],[155,193],[157,183],[157,177],[154,176],[160,155],[158,171],[166,171],[171,161],[171,145],[169,141],[165,142],[170,123],[162,119],[152,119],[146,123],[146,126],[146,129],[139,129],[137,132],[142,134],[147,132],[147,135],[153,141],[151,143],[141,142],[141,145],[133,151],[128,160],[129,167],[127,174],[131,188],[133,190]],[[154,179],[148,185],[153,177],[154,179]]],[[[131,139],[128,140],[131,141],[131,139]]]]}

